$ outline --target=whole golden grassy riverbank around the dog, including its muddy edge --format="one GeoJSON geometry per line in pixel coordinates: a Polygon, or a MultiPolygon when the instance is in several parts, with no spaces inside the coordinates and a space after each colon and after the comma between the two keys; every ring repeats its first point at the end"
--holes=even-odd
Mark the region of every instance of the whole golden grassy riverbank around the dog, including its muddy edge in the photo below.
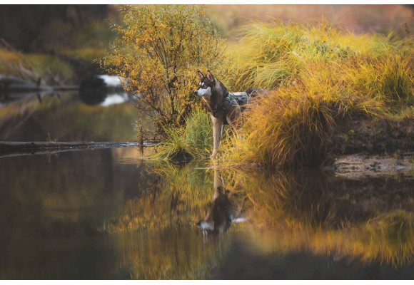
{"type": "MultiPolygon", "coordinates": [[[[320,167],[344,154],[414,150],[409,33],[355,34],[320,21],[315,26],[258,22],[240,34],[243,44],[229,51],[238,63],[231,76],[213,74],[231,91],[260,87],[268,92],[246,105],[244,140],[230,135],[221,141],[221,164],[320,167]]],[[[206,120],[193,114],[187,122],[198,126],[206,120]]],[[[171,130],[163,152],[211,154],[211,145],[203,143],[211,142],[205,140],[211,133],[193,144],[183,139],[191,135],[191,124],[171,130]]]]}

